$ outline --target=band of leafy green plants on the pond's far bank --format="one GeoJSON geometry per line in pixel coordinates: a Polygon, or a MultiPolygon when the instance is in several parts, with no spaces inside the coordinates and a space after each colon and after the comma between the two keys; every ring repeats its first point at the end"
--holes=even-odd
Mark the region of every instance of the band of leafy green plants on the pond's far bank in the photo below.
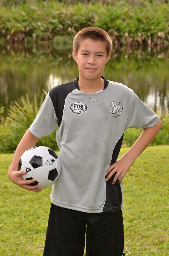
{"type": "Polygon", "coordinates": [[[24,2],[0,6],[0,37],[9,43],[74,36],[88,26],[106,30],[115,44],[169,43],[169,4],[165,1],[24,2]]]}

